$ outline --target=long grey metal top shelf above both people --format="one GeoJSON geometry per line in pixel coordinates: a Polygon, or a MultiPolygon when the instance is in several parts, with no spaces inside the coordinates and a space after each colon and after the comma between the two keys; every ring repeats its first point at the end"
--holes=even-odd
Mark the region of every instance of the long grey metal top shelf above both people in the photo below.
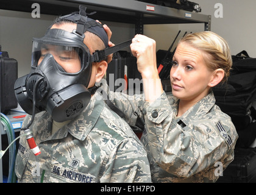
{"type": "Polygon", "coordinates": [[[0,4],[0,9],[32,12],[31,5],[35,2],[40,5],[40,13],[48,15],[66,15],[76,12],[82,4],[87,7],[88,13],[97,12],[90,16],[93,19],[131,23],[141,27],[143,24],[204,23],[205,30],[210,30],[210,15],[135,0],[9,0],[0,4]],[[147,10],[147,8],[154,10],[147,10]]]}

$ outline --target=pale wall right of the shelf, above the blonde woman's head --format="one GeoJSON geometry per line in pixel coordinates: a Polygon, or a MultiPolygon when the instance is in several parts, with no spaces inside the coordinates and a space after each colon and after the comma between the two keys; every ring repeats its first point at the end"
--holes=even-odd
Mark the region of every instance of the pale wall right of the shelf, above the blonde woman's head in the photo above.
{"type": "Polygon", "coordinates": [[[202,13],[212,15],[212,31],[225,38],[232,54],[246,50],[256,57],[255,0],[194,0],[202,5],[202,13]],[[223,5],[223,18],[215,18],[215,4],[223,5]]]}

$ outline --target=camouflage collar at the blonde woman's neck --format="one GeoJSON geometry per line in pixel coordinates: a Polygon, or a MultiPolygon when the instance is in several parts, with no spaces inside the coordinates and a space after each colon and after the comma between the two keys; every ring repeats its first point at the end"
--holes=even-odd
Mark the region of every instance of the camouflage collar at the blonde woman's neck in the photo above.
{"type": "MultiPolygon", "coordinates": [[[[213,91],[210,91],[207,96],[205,96],[201,101],[197,102],[193,107],[189,108],[180,118],[177,119],[177,122],[182,121],[185,126],[191,123],[191,119],[196,120],[204,117],[215,105],[215,96],[213,91]]],[[[176,110],[179,102],[176,102],[176,110]]]]}

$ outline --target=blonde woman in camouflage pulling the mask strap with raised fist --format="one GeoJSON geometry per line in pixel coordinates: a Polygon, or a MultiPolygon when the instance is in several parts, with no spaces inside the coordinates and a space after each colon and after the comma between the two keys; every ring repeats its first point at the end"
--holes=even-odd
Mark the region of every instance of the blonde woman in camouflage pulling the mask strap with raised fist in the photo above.
{"type": "Polygon", "coordinates": [[[212,91],[229,76],[232,58],[227,42],[213,32],[183,37],[173,57],[169,96],[158,77],[155,41],[136,35],[130,48],[137,57],[144,94],[110,92],[110,99],[126,113],[131,126],[138,118],[144,120],[141,141],[152,181],[216,182],[233,160],[238,138],[230,117],[215,105],[212,91]]]}

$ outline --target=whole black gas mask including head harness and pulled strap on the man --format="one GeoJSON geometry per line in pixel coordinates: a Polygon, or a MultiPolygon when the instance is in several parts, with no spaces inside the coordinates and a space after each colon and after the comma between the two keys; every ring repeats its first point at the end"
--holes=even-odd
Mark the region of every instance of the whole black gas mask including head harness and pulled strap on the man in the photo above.
{"type": "Polygon", "coordinates": [[[87,18],[84,7],[79,13],[62,16],[77,23],[68,32],[48,29],[44,37],[33,39],[30,73],[15,82],[15,95],[21,108],[29,115],[46,110],[54,121],[63,122],[78,116],[90,102],[88,83],[93,62],[129,46],[130,40],[92,55],[84,44],[84,32],[98,35],[105,46],[108,37],[101,24],[87,18]],[[72,66],[72,71],[69,70],[72,66]]]}

